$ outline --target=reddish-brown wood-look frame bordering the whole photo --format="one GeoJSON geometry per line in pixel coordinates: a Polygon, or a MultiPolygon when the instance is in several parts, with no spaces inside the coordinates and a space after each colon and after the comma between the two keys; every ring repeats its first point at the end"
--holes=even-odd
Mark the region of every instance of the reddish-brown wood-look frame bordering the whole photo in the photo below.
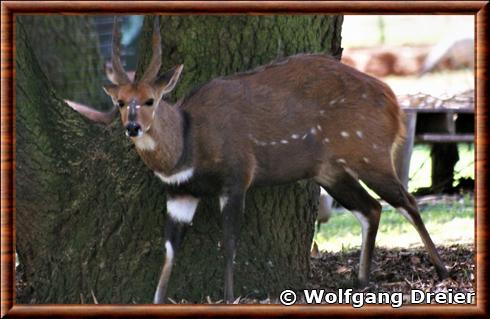
{"type": "Polygon", "coordinates": [[[1,317],[318,316],[488,314],[488,1],[4,1],[1,3],[1,317]],[[16,14],[459,14],[475,16],[476,305],[27,305],[15,303],[16,14]]]}

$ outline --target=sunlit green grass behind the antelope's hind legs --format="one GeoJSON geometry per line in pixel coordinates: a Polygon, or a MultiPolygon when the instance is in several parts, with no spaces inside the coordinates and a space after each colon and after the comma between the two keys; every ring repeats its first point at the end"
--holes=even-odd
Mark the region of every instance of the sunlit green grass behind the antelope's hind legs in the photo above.
{"type": "MultiPolygon", "coordinates": [[[[455,167],[455,180],[474,178],[474,145],[459,144],[460,160],[455,167]]],[[[416,145],[410,163],[409,189],[430,186],[430,148],[416,145]]],[[[371,193],[373,194],[373,193],[371,193]]],[[[469,196],[459,201],[420,205],[422,218],[436,245],[473,243],[474,205],[469,196]]],[[[327,224],[315,235],[320,250],[342,251],[361,245],[361,227],[346,210],[336,210],[327,224]]],[[[415,228],[393,209],[383,209],[377,235],[378,246],[387,248],[420,246],[415,228]]]]}

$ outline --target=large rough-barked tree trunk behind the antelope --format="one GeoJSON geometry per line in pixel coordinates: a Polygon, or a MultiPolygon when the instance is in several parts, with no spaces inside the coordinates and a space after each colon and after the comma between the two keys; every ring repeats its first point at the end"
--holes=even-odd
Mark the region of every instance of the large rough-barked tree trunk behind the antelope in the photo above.
{"type": "MultiPolygon", "coordinates": [[[[339,56],[341,21],[163,17],[162,71],[185,64],[178,98],[213,77],[278,56],[339,56]]],[[[17,25],[17,252],[27,282],[17,302],[91,303],[93,291],[100,303],[149,303],[165,251],[165,187],[137,157],[118,121],[101,128],[60,101],[65,92],[53,91],[23,23],[17,25]]],[[[141,39],[140,74],[148,60],[150,25],[145,22],[141,39]]],[[[85,58],[93,59],[78,58],[82,69],[85,58]]],[[[249,191],[236,296],[273,297],[282,289],[304,287],[318,193],[309,181],[249,191]]],[[[177,256],[170,297],[222,298],[221,240],[218,201],[206,199],[177,256]]]]}

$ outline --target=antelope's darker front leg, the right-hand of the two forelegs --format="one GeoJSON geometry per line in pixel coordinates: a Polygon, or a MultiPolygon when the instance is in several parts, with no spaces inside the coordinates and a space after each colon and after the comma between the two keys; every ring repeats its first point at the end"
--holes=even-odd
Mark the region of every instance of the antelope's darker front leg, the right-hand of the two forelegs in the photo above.
{"type": "Polygon", "coordinates": [[[233,303],[233,262],[236,253],[236,244],[240,233],[240,219],[245,206],[245,194],[235,194],[220,197],[220,206],[223,213],[223,235],[225,246],[225,302],[233,303]]]}

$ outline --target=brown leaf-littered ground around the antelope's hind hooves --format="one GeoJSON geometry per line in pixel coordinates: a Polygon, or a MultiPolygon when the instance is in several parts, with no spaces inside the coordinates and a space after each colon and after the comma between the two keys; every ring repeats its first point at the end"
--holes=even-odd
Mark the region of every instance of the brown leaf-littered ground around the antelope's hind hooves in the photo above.
{"type": "MultiPolygon", "coordinates": [[[[354,288],[354,292],[402,292],[404,301],[410,290],[430,292],[473,292],[475,285],[475,253],[473,244],[439,247],[441,258],[448,268],[450,278],[438,280],[426,251],[421,248],[386,249],[376,248],[370,284],[355,289],[359,250],[351,249],[336,253],[320,253],[311,257],[311,272],[305,289],[337,291],[354,288]]],[[[186,303],[185,300],[175,301],[186,303]]],[[[205,303],[222,303],[222,300],[207,298],[205,303]]],[[[277,298],[237,298],[240,304],[277,304],[277,298]]],[[[304,300],[298,300],[303,303],[304,300]]]]}

